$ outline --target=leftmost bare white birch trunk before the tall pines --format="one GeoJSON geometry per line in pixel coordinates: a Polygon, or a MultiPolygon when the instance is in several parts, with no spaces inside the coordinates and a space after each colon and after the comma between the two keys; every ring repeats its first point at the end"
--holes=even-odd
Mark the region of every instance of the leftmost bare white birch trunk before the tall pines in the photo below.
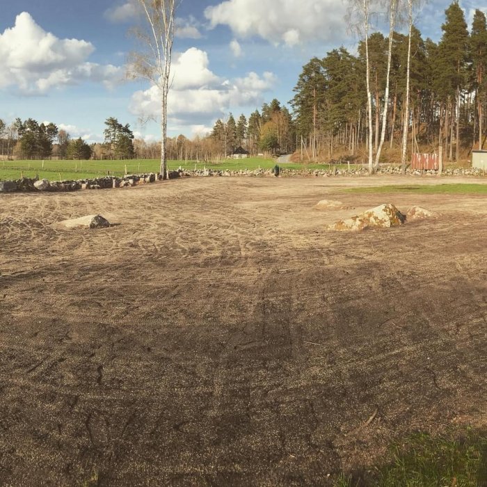
{"type": "Polygon", "coordinates": [[[359,35],[363,35],[365,42],[365,67],[367,79],[367,121],[368,121],[368,148],[369,148],[369,173],[374,172],[374,153],[372,141],[374,140],[372,128],[372,93],[370,91],[370,63],[369,63],[369,28],[371,17],[371,0],[349,0],[349,12],[347,20],[349,27],[359,35]]]}

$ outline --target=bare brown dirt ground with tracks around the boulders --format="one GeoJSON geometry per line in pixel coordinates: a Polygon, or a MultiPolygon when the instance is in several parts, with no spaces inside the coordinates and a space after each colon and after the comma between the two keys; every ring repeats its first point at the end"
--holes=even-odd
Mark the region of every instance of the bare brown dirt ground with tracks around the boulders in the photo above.
{"type": "Polygon", "coordinates": [[[486,426],[487,198],[342,193],[437,182],[1,195],[0,485],[326,485],[486,426]],[[442,216],[324,230],[388,202],[442,216]],[[119,225],[51,225],[94,213],[119,225]]]}

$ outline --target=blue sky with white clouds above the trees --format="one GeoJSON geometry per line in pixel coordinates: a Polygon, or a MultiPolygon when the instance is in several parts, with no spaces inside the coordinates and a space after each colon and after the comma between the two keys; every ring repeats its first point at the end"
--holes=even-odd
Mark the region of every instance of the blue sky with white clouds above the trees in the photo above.
{"type": "MultiPolygon", "coordinates": [[[[129,30],[144,25],[133,2],[0,0],[0,118],[54,122],[95,142],[115,117],[138,138],[159,140],[157,89],[126,75],[137,49],[129,30]]],[[[416,21],[424,38],[440,39],[449,3],[424,3],[416,21]]],[[[485,0],[460,4],[469,26],[475,8],[487,12],[485,0]]],[[[206,135],[230,112],[248,116],[273,98],[287,104],[312,57],[356,50],[345,14],[343,0],[182,0],[168,134],[206,135]]]]}

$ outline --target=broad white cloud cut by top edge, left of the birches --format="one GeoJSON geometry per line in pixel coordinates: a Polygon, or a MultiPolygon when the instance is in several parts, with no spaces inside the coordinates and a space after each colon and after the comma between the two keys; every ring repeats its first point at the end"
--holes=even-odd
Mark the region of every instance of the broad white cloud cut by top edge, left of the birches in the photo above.
{"type": "Polygon", "coordinates": [[[258,35],[288,46],[346,37],[346,6],[339,0],[226,0],[205,9],[211,28],[227,25],[246,38],[258,35]]]}

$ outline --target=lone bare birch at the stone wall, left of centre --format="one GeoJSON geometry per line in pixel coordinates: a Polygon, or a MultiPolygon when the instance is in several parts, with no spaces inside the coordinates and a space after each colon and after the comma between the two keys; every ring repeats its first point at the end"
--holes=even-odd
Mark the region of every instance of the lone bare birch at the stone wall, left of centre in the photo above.
{"type": "Polygon", "coordinates": [[[173,56],[175,13],[182,0],[134,0],[140,6],[147,29],[134,31],[143,49],[131,54],[129,75],[149,80],[161,94],[161,175],[168,177],[168,93],[173,56]]]}

